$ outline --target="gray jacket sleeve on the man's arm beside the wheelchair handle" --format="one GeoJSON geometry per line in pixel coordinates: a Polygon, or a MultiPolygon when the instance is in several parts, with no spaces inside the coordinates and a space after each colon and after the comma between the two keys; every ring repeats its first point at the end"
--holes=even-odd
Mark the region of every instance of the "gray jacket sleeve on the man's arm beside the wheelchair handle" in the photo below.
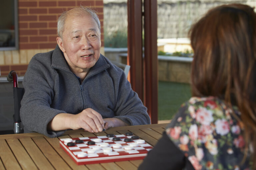
{"type": "MultiPolygon", "coordinates": [[[[38,58],[46,57],[42,54],[38,58]]],[[[24,132],[38,132],[48,137],[56,137],[62,131],[47,131],[48,123],[64,111],[50,107],[54,96],[54,72],[49,69],[50,63],[44,63],[33,57],[24,76],[25,93],[21,101],[20,116],[24,132]]],[[[55,73],[56,74],[56,73],[55,73]]]]}

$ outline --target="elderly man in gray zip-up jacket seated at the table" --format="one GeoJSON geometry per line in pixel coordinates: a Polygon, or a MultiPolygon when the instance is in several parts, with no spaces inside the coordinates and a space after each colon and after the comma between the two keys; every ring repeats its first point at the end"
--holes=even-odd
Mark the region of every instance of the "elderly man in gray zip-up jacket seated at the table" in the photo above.
{"type": "Polygon", "coordinates": [[[36,54],[24,76],[21,102],[24,132],[49,137],[66,129],[150,124],[146,107],[124,72],[100,54],[100,22],[89,8],[58,19],[58,45],[36,54]]]}

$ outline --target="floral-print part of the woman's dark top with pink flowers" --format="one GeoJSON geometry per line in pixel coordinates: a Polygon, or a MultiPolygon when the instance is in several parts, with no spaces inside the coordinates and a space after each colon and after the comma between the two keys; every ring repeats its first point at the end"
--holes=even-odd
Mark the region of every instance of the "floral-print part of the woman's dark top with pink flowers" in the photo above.
{"type": "MultiPolygon", "coordinates": [[[[233,110],[240,117],[237,107],[233,110]]],[[[243,124],[231,112],[217,98],[192,97],[182,105],[166,134],[196,170],[249,170],[250,155],[242,162],[243,124]]]]}

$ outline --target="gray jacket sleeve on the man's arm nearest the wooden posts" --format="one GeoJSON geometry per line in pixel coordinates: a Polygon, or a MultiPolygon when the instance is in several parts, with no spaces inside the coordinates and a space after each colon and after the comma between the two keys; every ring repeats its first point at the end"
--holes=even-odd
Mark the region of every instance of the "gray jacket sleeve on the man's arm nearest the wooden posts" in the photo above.
{"type": "MultiPolygon", "coordinates": [[[[120,77],[120,76],[119,76],[120,77]]],[[[129,125],[150,124],[147,108],[143,105],[138,94],[131,88],[124,72],[121,78],[114,83],[116,89],[115,117],[129,125]]]]}

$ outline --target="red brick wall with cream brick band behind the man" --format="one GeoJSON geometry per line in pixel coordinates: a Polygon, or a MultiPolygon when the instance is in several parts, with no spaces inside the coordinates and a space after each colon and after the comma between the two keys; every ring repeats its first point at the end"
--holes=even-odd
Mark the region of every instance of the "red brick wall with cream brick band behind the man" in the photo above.
{"type": "Polygon", "coordinates": [[[0,51],[1,77],[10,70],[16,70],[19,76],[24,75],[33,55],[54,49],[60,13],[80,5],[97,12],[103,47],[103,0],[18,0],[19,50],[0,51]]]}

